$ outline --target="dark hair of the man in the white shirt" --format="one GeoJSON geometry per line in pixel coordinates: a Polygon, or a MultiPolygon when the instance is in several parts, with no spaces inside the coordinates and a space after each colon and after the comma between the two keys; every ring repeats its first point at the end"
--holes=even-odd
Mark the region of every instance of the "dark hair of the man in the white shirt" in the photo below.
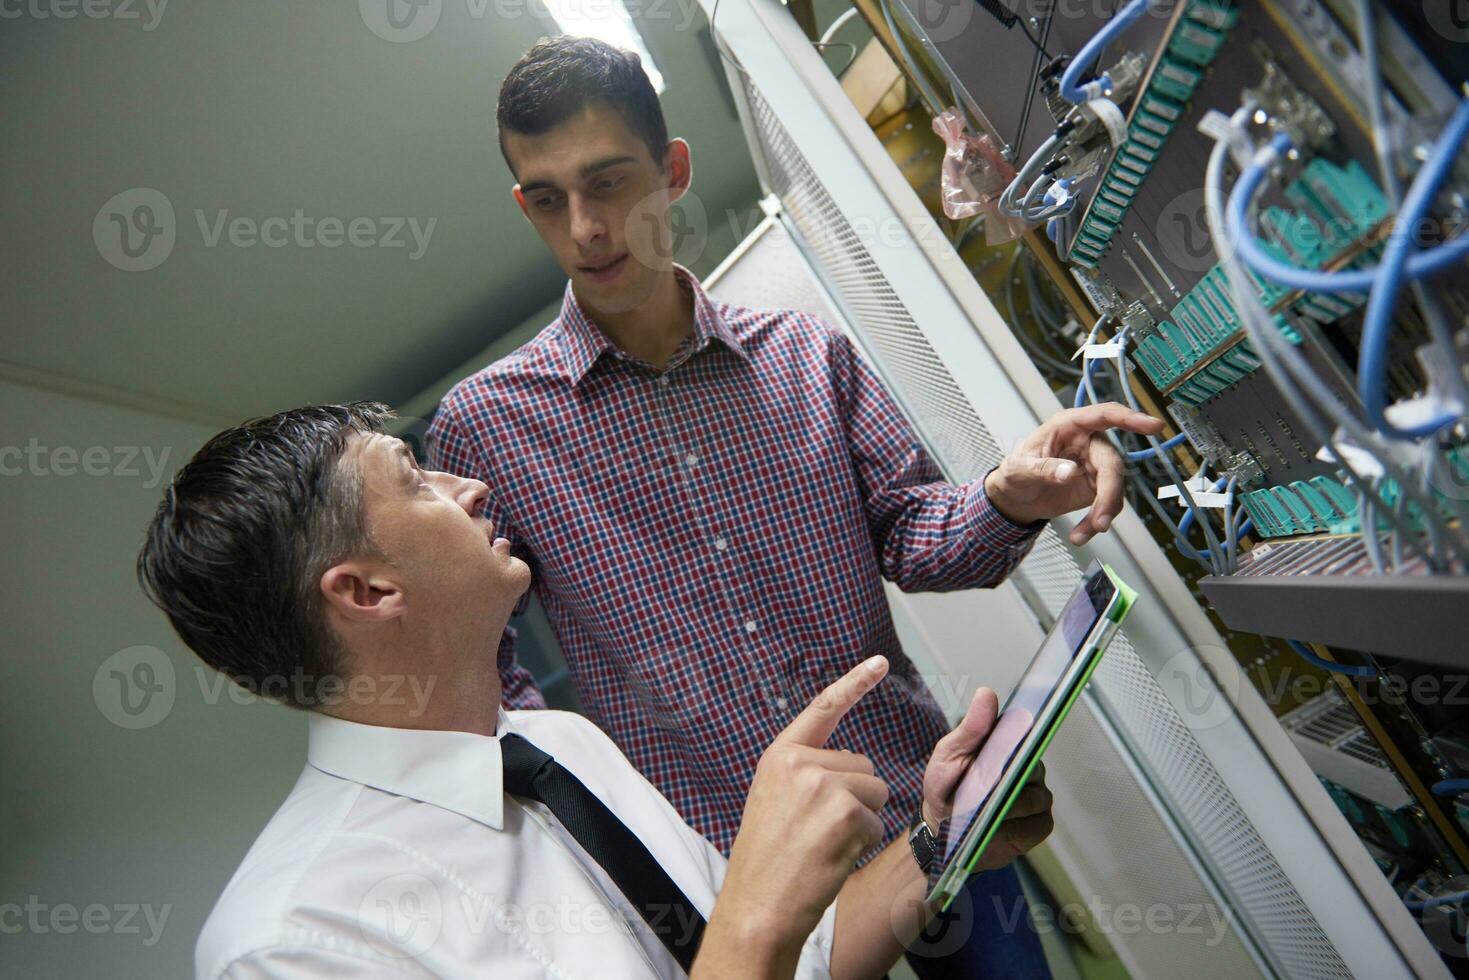
{"type": "Polygon", "coordinates": [[[210,667],[297,708],[344,669],[319,582],[375,555],[361,473],[342,451],[379,432],[375,401],[294,408],[226,429],[173,478],[138,554],[138,582],[210,667]]]}

